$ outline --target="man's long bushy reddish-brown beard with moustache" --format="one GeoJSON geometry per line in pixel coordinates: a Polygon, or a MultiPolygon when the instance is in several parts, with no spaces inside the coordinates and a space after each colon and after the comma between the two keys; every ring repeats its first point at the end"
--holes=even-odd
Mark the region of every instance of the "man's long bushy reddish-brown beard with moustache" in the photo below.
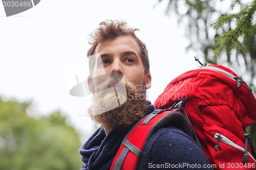
{"type": "Polygon", "coordinates": [[[144,116],[147,109],[145,81],[142,85],[134,85],[122,79],[116,85],[109,87],[110,81],[98,85],[88,110],[105,132],[130,127],[144,116]]]}

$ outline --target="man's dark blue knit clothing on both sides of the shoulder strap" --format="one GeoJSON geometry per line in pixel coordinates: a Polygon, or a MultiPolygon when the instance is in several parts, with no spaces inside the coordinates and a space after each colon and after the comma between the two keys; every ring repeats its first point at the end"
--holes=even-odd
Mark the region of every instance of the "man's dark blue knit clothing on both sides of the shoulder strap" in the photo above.
{"type": "MultiPolygon", "coordinates": [[[[153,110],[154,106],[150,103],[148,113],[153,110]]],[[[110,169],[120,144],[130,129],[131,127],[123,131],[112,130],[108,135],[105,135],[102,128],[96,130],[79,150],[84,162],[81,170],[110,169]]],[[[210,169],[203,167],[208,164],[208,159],[195,140],[180,129],[169,126],[157,130],[146,142],[136,169],[210,169]]]]}

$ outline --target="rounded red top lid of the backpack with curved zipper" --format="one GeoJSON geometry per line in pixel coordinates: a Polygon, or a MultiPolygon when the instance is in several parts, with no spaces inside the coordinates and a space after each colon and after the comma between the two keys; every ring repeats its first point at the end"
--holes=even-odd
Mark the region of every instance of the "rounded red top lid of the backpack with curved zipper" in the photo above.
{"type": "Polygon", "coordinates": [[[181,100],[198,99],[199,105],[224,104],[233,108],[245,128],[256,123],[256,99],[236,73],[220,65],[186,71],[172,80],[154,103],[167,109],[181,100]]]}

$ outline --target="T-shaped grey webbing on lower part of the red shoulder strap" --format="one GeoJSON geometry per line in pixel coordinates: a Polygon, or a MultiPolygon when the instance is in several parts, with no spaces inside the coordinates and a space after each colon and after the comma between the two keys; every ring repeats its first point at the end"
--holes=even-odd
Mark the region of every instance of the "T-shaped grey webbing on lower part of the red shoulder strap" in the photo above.
{"type": "Polygon", "coordinates": [[[113,167],[113,170],[119,170],[123,164],[123,161],[126,157],[126,155],[128,154],[129,151],[133,152],[136,156],[140,156],[141,151],[135,147],[135,145],[133,145],[130,141],[124,139],[122,144],[125,146],[125,148],[123,149],[123,151],[121,152],[121,154],[119,155],[115,166],[113,167]]]}

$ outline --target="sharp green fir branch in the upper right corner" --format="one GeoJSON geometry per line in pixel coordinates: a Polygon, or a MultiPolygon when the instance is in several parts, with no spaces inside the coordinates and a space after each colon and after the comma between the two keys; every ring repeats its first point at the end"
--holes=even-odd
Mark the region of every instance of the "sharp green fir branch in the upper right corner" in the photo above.
{"type": "MultiPolygon", "coordinates": [[[[233,1],[230,9],[240,4],[241,1],[233,1]]],[[[215,38],[217,48],[213,58],[219,57],[224,50],[226,50],[228,58],[231,57],[233,50],[237,50],[244,55],[250,53],[252,47],[251,36],[253,36],[252,32],[250,32],[250,28],[252,27],[255,9],[256,1],[253,1],[251,5],[245,6],[238,13],[223,15],[210,23],[210,27],[217,30],[227,23],[230,23],[232,20],[236,20],[236,28],[223,32],[220,37],[215,38]],[[242,39],[242,41],[240,39],[242,39]]]]}

